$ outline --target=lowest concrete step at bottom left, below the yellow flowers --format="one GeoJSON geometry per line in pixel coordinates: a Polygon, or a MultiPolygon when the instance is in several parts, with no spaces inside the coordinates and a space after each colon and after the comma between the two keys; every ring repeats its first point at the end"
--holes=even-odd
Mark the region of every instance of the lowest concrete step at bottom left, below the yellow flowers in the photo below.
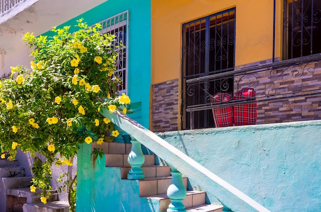
{"type": "Polygon", "coordinates": [[[26,203],[23,212],[69,212],[69,204],[64,201],[43,203],[26,203]]]}

